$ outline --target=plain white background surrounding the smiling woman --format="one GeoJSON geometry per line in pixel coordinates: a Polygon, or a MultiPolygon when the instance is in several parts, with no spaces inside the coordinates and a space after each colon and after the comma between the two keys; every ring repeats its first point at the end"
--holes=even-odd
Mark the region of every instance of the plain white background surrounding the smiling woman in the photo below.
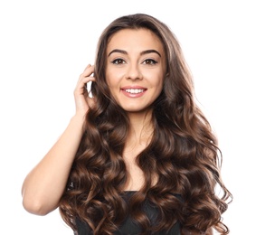
{"type": "Polygon", "coordinates": [[[193,72],[234,196],[223,221],[232,235],[256,234],[256,14],[247,0],[1,1],[0,234],[72,234],[57,210],[44,217],[24,211],[21,186],[68,124],[73,89],[103,28],[139,12],[170,26],[193,72]]]}

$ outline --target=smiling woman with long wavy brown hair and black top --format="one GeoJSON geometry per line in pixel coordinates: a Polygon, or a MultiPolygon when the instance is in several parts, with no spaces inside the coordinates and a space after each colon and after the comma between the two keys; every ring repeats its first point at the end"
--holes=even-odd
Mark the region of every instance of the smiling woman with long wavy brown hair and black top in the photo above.
{"type": "Polygon", "coordinates": [[[24,180],[27,211],[59,207],[75,234],[229,233],[221,151],[166,24],[147,14],[109,24],[74,98],[70,124],[24,180]]]}

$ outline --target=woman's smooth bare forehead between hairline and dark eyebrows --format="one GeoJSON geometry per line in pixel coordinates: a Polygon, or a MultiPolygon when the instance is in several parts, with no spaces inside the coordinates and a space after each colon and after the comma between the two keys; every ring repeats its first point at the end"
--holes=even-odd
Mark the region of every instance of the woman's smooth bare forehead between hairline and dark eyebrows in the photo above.
{"type": "Polygon", "coordinates": [[[107,52],[113,49],[131,50],[131,49],[156,49],[163,52],[163,43],[158,36],[148,29],[123,29],[114,33],[109,38],[107,52]]]}

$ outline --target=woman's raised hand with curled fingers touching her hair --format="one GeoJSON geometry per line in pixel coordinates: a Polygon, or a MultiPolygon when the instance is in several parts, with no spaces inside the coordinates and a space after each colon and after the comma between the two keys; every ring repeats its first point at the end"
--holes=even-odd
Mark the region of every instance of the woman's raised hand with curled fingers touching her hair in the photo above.
{"type": "Polygon", "coordinates": [[[92,76],[93,71],[94,66],[89,64],[81,73],[74,90],[76,113],[79,113],[82,116],[85,116],[88,112],[88,109],[94,104],[93,98],[89,97],[88,91],[86,89],[86,85],[89,81],[95,81],[94,77],[92,76]]]}

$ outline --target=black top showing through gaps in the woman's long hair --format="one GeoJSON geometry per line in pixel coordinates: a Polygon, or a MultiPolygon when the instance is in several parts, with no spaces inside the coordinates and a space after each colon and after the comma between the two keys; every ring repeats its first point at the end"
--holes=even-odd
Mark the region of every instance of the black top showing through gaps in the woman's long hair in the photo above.
{"type": "MultiPolygon", "coordinates": [[[[124,199],[128,200],[129,197],[131,197],[135,192],[133,191],[127,191],[125,192],[124,199]]],[[[175,194],[175,197],[178,199],[181,199],[181,196],[179,194],[175,194]]],[[[147,214],[147,217],[150,221],[154,222],[156,221],[157,217],[157,209],[156,207],[152,206],[150,203],[146,202],[144,204],[144,212],[147,214]]],[[[86,222],[83,222],[76,219],[76,225],[78,229],[78,235],[92,235],[92,231],[90,230],[89,225],[86,222]]],[[[128,217],[122,224],[119,226],[119,230],[116,230],[113,235],[139,235],[141,232],[139,225],[133,221],[130,217],[128,217]]],[[[172,227],[169,231],[159,231],[152,233],[152,235],[180,235],[180,224],[179,222],[176,222],[175,225],[172,227]]]]}

